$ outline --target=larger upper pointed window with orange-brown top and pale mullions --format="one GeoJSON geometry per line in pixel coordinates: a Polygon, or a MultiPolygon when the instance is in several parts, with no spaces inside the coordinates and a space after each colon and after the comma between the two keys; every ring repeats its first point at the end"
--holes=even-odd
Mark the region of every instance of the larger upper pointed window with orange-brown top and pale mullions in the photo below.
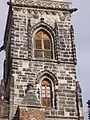
{"type": "Polygon", "coordinates": [[[51,37],[44,31],[40,30],[34,37],[34,57],[52,59],[51,37]]]}

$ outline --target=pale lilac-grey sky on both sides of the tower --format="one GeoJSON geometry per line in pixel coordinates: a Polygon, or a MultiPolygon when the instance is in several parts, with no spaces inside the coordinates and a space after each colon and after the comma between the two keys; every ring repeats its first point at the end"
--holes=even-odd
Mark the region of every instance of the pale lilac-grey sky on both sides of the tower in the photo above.
{"type": "MultiPolygon", "coordinates": [[[[77,80],[82,88],[85,120],[88,120],[86,102],[90,99],[90,0],[71,2],[74,8],[78,8],[78,11],[72,14],[77,51],[77,80]]],[[[3,45],[7,13],[7,0],[0,0],[0,46],[3,45]]],[[[0,79],[3,78],[3,61],[4,51],[0,53],[0,79]]]]}

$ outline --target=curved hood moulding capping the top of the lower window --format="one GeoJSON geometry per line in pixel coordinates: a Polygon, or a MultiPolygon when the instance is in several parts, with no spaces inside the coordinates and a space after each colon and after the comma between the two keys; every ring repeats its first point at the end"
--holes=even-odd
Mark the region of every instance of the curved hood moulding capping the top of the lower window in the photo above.
{"type": "Polygon", "coordinates": [[[37,75],[37,79],[36,79],[37,84],[39,84],[41,82],[43,77],[48,77],[49,79],[51,79],[54,86],[58,85],[58,80],[57,80],[56,76],[48,70],[42,71],[37,75]]]}

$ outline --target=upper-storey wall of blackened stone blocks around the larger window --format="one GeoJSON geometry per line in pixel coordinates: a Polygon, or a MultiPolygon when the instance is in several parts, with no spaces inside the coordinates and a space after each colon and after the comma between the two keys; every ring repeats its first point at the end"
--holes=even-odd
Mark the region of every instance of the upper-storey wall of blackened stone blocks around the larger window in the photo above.
{"type": "Polygon", "coordinates": [[[29,56],[33,56],[31,30],[36,24],[40,23],[41,18],[44,18],[44,22],[50,25],[54,32],[57,32],[53,40],[53,51],[55,51],[56,59],[59,59],[61,62],[73,63],[73,41],[70,37],[71,15],[63,11],[13,8],[11,56],[22,59],[28,59],[29,56]],[[31,49],[28,51],[29,48],[31,49]]]}

